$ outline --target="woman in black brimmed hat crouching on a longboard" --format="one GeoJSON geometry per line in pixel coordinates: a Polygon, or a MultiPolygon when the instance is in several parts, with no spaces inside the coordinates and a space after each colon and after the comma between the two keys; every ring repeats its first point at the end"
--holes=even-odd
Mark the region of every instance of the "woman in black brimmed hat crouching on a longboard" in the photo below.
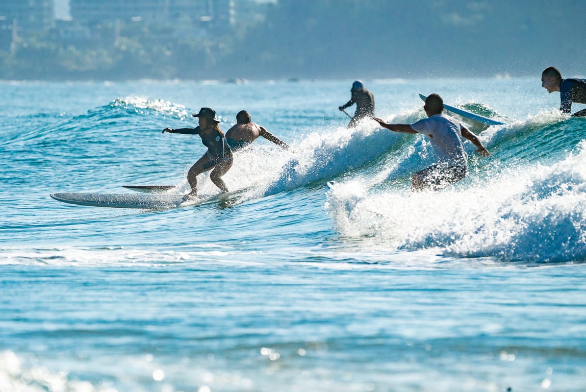
{"type": "Polygon", "coordinates": [[[184,135],[199,135],[202,138],[202,143],[207,147],[206,153],[199,158],[196,163],[189,169],[187,173],[187,180],[191,185],[191,191],[185,195],[185,199],[197,196],[197,175],[205,173],[213,169],[210,173],[210,180],[216,184],[223,192],[227,192],[228,188],[222,180],[222,176],[226,174],[230,167],[232,167],[232,150],[226,143],[226,137],[220,130],[219,120],[216,120],[216,111],[209,107],[202,107],[199,113],[193,113],[193,117],[199,120],[199,126],[195,128],[179,128],[179,129],[163,129],[169,133],[180,133],[184,135]]]}

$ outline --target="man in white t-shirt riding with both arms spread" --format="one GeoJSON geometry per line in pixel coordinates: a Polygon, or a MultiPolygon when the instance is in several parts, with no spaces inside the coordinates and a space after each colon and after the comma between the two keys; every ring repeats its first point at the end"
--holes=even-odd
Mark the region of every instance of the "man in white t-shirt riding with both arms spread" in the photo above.
{"type": "Polygon", "coordinates": [[[438,94],[428,96],[423,109],[428,118],[413,124],[389,124],[374,117],[374,120],[382,127],[391,131],[423,133],[430,138],[431,145],[438,156],[438,162],[413,174],[412,191],[438,190],[466,177],[468,156],[464,150],[464,144],[462,144],[462,137],[472,141],[478,147],[476,152],[483,157],[490,155],[475,134],[459,121],[442,114],[444,100],[438,94]]]}

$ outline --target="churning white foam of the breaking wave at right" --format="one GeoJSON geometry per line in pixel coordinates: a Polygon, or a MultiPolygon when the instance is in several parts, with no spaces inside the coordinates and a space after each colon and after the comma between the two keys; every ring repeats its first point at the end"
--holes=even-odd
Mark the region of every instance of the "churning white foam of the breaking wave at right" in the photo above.
{"type": "MultiPolygon", "coordinates": [[[[507,261],[586,258],[586,143],[551,167],[527,165],[440,192],[368,192],[340,184],[327,208],[345,236],[391,248],[437,247],[446,255],[507,261]]],[[[468,180],[465,180],[468,181],[468,180]]]]}

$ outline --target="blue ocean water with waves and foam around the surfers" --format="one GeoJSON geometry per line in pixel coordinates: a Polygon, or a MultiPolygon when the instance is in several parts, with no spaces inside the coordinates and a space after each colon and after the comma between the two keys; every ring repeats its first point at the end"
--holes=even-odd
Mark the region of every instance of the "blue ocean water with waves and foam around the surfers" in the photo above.
{"type": "Polygon", "coordinates": [[[346,129],[352,80],[0,82],[0,391],[586,390],[586,119],[539,77],[364,83],[390,121],[437,92],[507,125],[414,194],[430,145],[346,129]],[[186,191],[205,147],[161,130],[203,106],[293,151],[260,138],[191,207],[49,197],[186,191]]]}

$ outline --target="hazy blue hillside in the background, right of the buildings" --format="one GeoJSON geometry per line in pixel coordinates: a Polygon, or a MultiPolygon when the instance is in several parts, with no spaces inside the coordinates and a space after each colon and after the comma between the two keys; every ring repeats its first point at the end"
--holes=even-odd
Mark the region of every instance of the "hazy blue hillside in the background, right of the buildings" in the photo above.
{"type": "Polygon", "coordinates": [[[240,69],[369,77],[584,75],[586,2],[280,0],[240,69]]]}

